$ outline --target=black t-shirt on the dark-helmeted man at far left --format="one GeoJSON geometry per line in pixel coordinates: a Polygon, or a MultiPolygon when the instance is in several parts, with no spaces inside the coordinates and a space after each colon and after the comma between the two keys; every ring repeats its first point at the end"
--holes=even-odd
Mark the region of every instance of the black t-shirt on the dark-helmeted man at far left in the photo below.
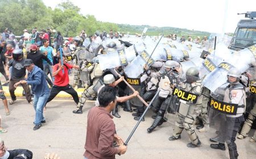
{"type": "Polygon", "coordinates": [[[26,75],[26,68],[23,67],[24,61],[24,58],[21,61],[16,61],[14,59],[9,61],[9,67],[13,66],[13,69],[11,69],[11,80],[24,79],[26,75]]]}

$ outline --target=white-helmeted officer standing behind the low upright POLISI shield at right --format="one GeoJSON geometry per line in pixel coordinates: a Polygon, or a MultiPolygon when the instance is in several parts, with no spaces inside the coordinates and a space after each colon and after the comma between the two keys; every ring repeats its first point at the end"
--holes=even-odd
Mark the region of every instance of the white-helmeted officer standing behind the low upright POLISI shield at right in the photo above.
{"type": "MultiPolygon", "coordinates": [[[[224,122],[221,122],[218,136],[210,141],[218,141],[218,144],[210,144],[210,148],[225,150],[225,142],[228,144],[230,159],[238,158],[236,136],[241,123],[244,122],[246,94],[242,83],[240,83],[241,73],[238,69],[232,68],[228,72],[229,85],[225,88],[224,102],[237,104],[236,115],[222,114],[224,122]],[[220,140],[221,139],[221,140],[220,140]],[[221,143],[220,143],[221,142],[221,143]]],[[[218,118],[220,119],[220,118],[218,118]]]]}

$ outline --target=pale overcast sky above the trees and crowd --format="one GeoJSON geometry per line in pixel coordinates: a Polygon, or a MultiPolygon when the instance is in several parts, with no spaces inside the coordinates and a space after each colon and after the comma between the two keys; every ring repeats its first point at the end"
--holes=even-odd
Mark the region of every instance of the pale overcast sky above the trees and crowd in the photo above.
{"type": "MultiPolygon", "coordinates": [[[[43,0],[54,8],[64,0],[43,0]]],[[[234,32],[245,15],[256,11],[255,0],[70,0],[81,14],[94,15],[102,22],[177,27],[208,32],[234,32]]]]}

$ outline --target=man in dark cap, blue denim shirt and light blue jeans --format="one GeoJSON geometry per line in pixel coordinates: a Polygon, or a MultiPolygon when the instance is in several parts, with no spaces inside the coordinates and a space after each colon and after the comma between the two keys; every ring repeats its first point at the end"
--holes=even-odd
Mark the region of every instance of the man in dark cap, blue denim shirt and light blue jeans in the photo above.
{"type": "Polygon", "coordinates": [[[24,67],[28,70],[27,80],[19,81],[14,86],[17,87],[20,84],[31,85],[34,93],[34,109],[36,111],[35,127],[33,129],[37,130],[42,126],[41,123],[46,123],[46,119],[43,116],[43,108],[49,97],[49,87],[47,86],[43,70],[34,65],[31,59],[24,61],[24,67]]]}

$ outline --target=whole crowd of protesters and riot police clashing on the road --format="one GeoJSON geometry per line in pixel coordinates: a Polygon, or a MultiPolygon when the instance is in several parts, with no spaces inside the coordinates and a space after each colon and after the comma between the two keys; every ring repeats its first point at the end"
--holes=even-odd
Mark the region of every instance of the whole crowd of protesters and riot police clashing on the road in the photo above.
{"type": "MultiPolygon", "coordinates": [[[[134,37],[137,39],[144,38],[143,35],[138,34],[134,37]]],[[[204,36],[203,40],[199,36],[194,40],[191,36],[188,36],[187,40],[185,36],[182,36],[177,41],[175,34],[168,35],[167,38],[189,47],[192,47],[192,44],[200,48],[209,47],[207,36],[204,36]]],[[[146,105],[139,98],[135,98],[139,96],[146,102],[150,102],[156,96],[151,106],[152,111],[155,112],[155,115],[152,116],[154,122],[148,127],[148,133],[156,131],[158,126],[164,124],[167,121],[164,115],[168,113],[175,116],[174,131],[169,140],[180,139],[180,134],[185,129],[191,140],[187,147],[196,148],[200,147],[201,141],[193,124],[201,121],[196,129],[204,133],[209,131],[211,121],[220,125],[216,129],[216,137],[210,139],[210,141],[218,142],[218,144],[211,144],[210,147],[225,150],[224,143],[226,143],[230,158],[238,158],[235,140],[241,124],[244,122],[245,94],[249,93],[248,91],[245,93],[245,89],[249,87],[247,81],[251,77],[249,73],[241,73],[236,68],[228,71],[226,76],[228,85],[222,87],[222,93],[217,93],[218,98],[216,99],[219,100],[217,102],[236,104],[237,114],[221,114],[221,117],[225,117],[227,120],[216,122],[212,121],[213,116],[217,115],[216,111],[209,111],[211,110],[209,103],[212,103],[211,100],[215,100],[209,96],[214,96],[212,95],[214,93],[203,85],[199,68],[190,67],[187,70],[183,68],[181,62],[189,61],[184,52],[183,60],[168,58],[167,52],[165,60],[157,60],[150,64],[149,57],[143,64],[143,72],[134,78],[129,77],[125,72],[125,67],[127,68],[128,63],[131,62],[121,56],[121,53],[133,44],[125,41],[129,39],[129,35],[113,32],[113,30],[110,30],[109,34],[106,31],[102,33],[97,31],[88,37],[85,30],[82,30],[80,35],[64,40],[60,32],[50,28],[41,32],[34,28],[32,34],[25,29],[18,42],[15,36],[6,29],[1,34],[0,39],[0,70],[9,83],[11,95],[9,104],[16,102],[14,91],[16,87],[22,85],[27,102],[32,104],[35,109],[34,131],[41,128],[42,123],[46,123],[43,110],[46,104],[52,101],[60,91],[72,95],[73,101],[77,105],[77,109],[73,110],[74,114],[82,114],[86,100],[96,99],[96,107],[88,112],[85,158],[114,158],[115,154],[126,152],[127,147],[121,137],[116,134],[112,118],[113,116],[121,118],[118,114],[118,106],[121,106],[123,111],[135,111],[131,114],[134,116],[134,120],[144,121],[142,115],[146,110],[146,105]],[[113,52],[118,53],[120,65],[115,68],[109,66],[109,68],[102,70],[101,59],[113,52]],[[70,74],[73,74],[72,84],[69,82],[70,74]],[[135,91],[127,87],[125,80],[134,87],[135,91]],[[81,98],[74,89],[75,87],[84,88],[81,98]],[[181,97],[180,93],[187,95],[187,97],[184,98],[184,95],[181,97]],[[32,101],[32,97],[34,101],[32,101]],[[134,110],[132,107],[135,107],[134,110]],[[227,129],[225,124],[233,125],[233,127],[227,129]],[[113,147],[113,142],[115,147],[113,147]]],[[[173,45],[170,46],[173,47],[173,45]]],[[[140,57],[141,52],[136,47],[134,47],[135,53],[136,56],[140,57]]],[[[114,56],[111,57],[114,58],[114,56]]],[[[207,55],[204,57],[206,58],[207,55]]],[[[6,115],[10,115],[1,83],[0,97],[5,105],[6,115]]],[[[238,139],[245,138],[250,131],[256,116],[254,109],[251,108],[250,115],[243,125],[238,139]]],[[[0,131],[7,132],[1,125],[0,131]]],[[[255,137],[256,133],[250,141],[255,142],[255,137]]],[[[0,148],[5,152],[2,145],[0,148]]]]}

